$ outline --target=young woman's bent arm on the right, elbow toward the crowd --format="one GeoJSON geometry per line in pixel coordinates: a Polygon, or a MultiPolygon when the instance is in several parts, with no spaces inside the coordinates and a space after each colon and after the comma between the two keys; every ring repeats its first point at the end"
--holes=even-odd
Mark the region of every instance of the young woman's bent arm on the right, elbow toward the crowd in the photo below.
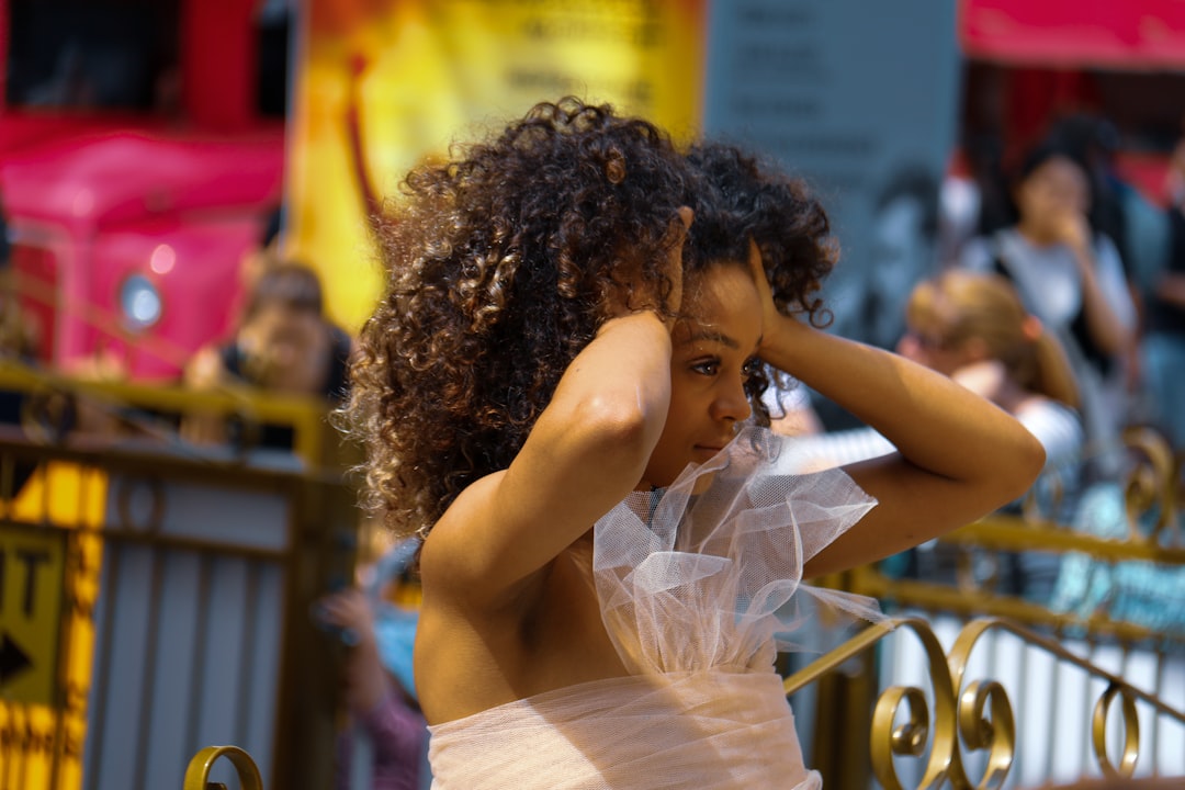
{"type": "Polygon", "coordinates": [[[847,467],[879,505],[808,564],[812,576],[915,546],[1021,495],[1040,473],[1040,444],[1007,412],[896,354],[781,315],[761,256],[766,300],[760,354],[877,429],[898,452],[847,467]]]}

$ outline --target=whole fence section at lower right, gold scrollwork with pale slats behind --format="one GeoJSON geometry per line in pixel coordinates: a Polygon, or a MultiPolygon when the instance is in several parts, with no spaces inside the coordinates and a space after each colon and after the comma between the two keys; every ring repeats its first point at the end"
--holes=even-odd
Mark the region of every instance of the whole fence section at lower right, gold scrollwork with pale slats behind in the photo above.
{"type": "Polygon", "coordinates": [[[899,623],[787,681],[814,712],[807,738],[828,786],[1185,784],[1181,460],[1149,431],[1126,441],[1123,476],[1082,500],[1110,508],[1107,529],[1057,520],[1063,493],[1035,492],[923,548],[921,572],[828,580],[899,623]],[[1010,564],[1040,583],[1018,585],[1010,564]]]}

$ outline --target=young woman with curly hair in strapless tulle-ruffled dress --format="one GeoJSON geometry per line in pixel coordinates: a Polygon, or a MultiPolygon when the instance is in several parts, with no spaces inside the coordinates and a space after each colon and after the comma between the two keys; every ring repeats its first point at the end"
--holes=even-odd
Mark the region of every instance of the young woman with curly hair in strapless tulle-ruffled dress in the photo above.
{"type": "Polygon", "coordinates": [[[389,217],[352,411],[390,522],[427,535],[437,785],[816,785],[774,612],[803,574],[1016,497],[1039,445],[947,378],[815,329],[826,217],[729,149],[688,160],[564,99],[415,171],[389,217]],[[764,365],[901,455],[786,475],[751,424],[764,365]]]}

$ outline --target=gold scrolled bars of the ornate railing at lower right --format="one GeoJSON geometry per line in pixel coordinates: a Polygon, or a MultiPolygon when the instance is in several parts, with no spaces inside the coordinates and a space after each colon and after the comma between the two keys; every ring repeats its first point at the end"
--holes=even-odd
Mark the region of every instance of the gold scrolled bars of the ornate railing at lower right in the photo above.
{"type": "MultiPolygon", "coordinates": [[[[1059,728],[1077,724],[1082,731],[1089,730],[1085,751],[1090,753],[1083,753],[1083,775],[1096,773],[1102,779],[1127,782],[1141,752],[1152,752],[1151,775],[1155,775],[1157,741],[1152,741],[1151,750],[1141,750],[1147,744],[1141,744],[1135,708],[1157,717],[1158,722],[1176,722],[1170,725],[1174,727],[1174,737],[1176,727],[1180,727],[1185,740],[1185,714],[1165,705],[1158,687],[1165,667],[1177,667],[1185,660],[1185,627],[1181,625],[1185,618],[1167,618],[1172,621],[1168,627],[1126,619],[1115,615],[1113,598],[1103,605],[1094,606],[1091,599],[1091,605],[1053,610],[1048,605],[1050,602],[1006,590],[994,576],[985,578],[971,572],[980,560],[1045,553],[1058,558],[1058,574],[1064,572],[1066,558],[1076,555],[1080,561],[1089,558],[1096,567],[1109,569],[1112,573],[1126,564],[1146,564],[1145,567],[1165,574],[1158,578],[1185,579],[1181,576],[1185,574],[1181,457],[1174,457],[1154,431],[1134,429],[1125,436],[1125,458],[1123,476],[1102,483],[1112,487],[1109,501],[1115,510],[1115,520],[1106,535],[1078,531],[1066,522],[1069,519],[1062,520],[1058,514],[1064,516],[1065,497],[1071,493],[1046,488],[1043,496],[1030,495],[1019,512],[993,514],[943,537],[933,555],[941,558],[944,582],[925,574],[915,578],[890,576],[883,566],[857,569],[825,582],[876,597],[889,611],[901,612],[903,616],[895,622],[898,630],[920,641],[930,686],[929,696],[911,683],[883,692],[876,687],[871,680],[873,667],[893,660],[886,657],[890,654],[885,650],[878,653],[878,646],[883,646],[889,635],[884,629],[870,629],[792,675],[787,681],[788,692],[812,683],[822,689],[816,705],[822,728],[813,762],[824,771],[830,786],[866,788],[867,773],[872,772],[885,788],[899,788],[902,783],[895,766],[904,766],[912,759],[917,763],[910,767],[921,777],[916,779],[918,788],[999,788],[1010,776],[1010,769],[1018,764],[1018,740],[1025,744],[1023,753],[1039,753],[1031,762],[1044,762],[1049,767],[1053,762],[1050,753],[1055,738],[1032,731],[1026,737],[1025,722],[1013,720],[1008,693],[1000,682],[1013,679],[972,680],[967,676],[975,646],[988,634],[993,636],[987,641],[994,643],[995,635],[1003,632],[1020,641],[1024,655],[1030,655],[1029,651],[1045,654],[1059,667],[1076,667],[1094,679],[1095,685],[1101,683],[1101,691],[1087,700],[1094,706],[1089,721],[1059,722],[1059,728]],[[935,634],[940,624],[959,632],[946,654],[935,634]],[[1066,644],[1091,655],[1095,650],[1121,654],[1125,662],[1132,656],[1142,656],[1155,663],[1155,670],[1145,672],[1142,677],[1125,679],[1091,663],[1066,644]],[[853,664],[859,669],[853,672],[853,664]],[[1119,708],[1115,708],[1116,700],[1119,708]],[[1113,708],[1116,714],[1109,719],[1108,712],[1113,708]],[[869,718],[871,731],[867,730],[869,718]],[[1122,721],[1126,732],[1108,731],[1108,720],[1112,730],[1122,721]],[[871,739],[869,763],[863,765],[844,743],[844,736],[858,730],[871,739]],[[1116,739],[1119,734],[1122,738],[1116,739]],[[1046,740],[1044,753],[1043,739],[1046,740]],[[1108,743],[1119,750],[1116,756],[1108,754],[1108,743]],[[984,766],[979,776],[968,776],[968,754],[974,754],[975,764],[984,766]],[[1089,765],[1085,764],[1088,758],[1089,765]],[[839,781],[834,781],[837,777],[839,781]]],[[[1174,604],[1166,606],[1172,609],[1174,604]]],[[[1071,673],[1081,674],[1077,670],[1071,673]]],[[[885,670],[885,674],[892,673],[885,670]]],[[[1012,700],[1023,700],[1029,711],[1033,700],[1050,692],[1044,687],[1025,687],[1023,682],[1017,685],[1021,687],[1010,688],[1012,700]]],[[[1051,696],[1057,693],[1052,692],[1051,696]]],[[[1185,701],[1174,705],[1185,708],[1185,701]]],[[[848,739],[846,744],[850,743],[848,739]]],[[[1179,754],[1172,743],[1167,749],[1179,754]]],[[[1149,775],[1148,764],[1148,759],[1141,763],[1141,775],[1149,775]]],[[[1045,776],[1040,782],[1051,778],[1045,776]]],[[[1010,784],[1016,782],[1017,777],[1010,778],[1010,784]]],[[[1180,783],[1185,786],[1185,778],[1180,778],[1180,783]]]]}

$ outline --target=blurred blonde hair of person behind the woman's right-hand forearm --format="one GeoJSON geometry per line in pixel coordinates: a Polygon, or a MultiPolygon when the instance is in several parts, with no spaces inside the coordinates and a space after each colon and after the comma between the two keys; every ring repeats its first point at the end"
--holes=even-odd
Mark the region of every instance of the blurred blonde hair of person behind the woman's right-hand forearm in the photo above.
{"type": "Polygon", "coordinates": [[[952,269],[920,283],[907,307],[909,323],[957,347],[972,340],[1004,364],[1023,388],[1080,406],[1078,384],[1065,349],[1036,316],[1016,288],[993,274],[952,269]]]}

